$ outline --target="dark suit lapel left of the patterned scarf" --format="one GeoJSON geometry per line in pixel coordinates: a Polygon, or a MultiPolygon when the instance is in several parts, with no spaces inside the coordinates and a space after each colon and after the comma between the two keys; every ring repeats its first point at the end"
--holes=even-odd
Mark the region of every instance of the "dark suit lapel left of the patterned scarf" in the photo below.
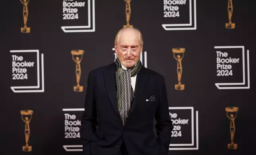
{"type": "Polygon", "coordinates": [[[109,65],[107,70],[104,71],[104,79],[105,79],[107,94],[109,95],[109,99],[111,101],[112,107],[114,108],[114,111],[116,112],[116,114],[121,120],[120,113],[118,111],[118,106],[117,106],[117,99],[116,99],[115,73],[116,73],[116,65],[112,63],[109,65]]]}

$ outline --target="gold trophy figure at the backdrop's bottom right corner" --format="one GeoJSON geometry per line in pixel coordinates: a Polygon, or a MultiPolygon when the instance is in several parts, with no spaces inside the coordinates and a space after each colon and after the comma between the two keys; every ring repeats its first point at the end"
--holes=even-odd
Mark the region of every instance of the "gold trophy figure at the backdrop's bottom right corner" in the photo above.
{"type": "Polygon", "coordinates": [[[237,144],[234,144],[234,136],[235,136],[235,119],[237,117],[238,107],[227,107],[225,108],[227,117],[230,120],[230,136],[231,136],[231,144],[227,144],[228,149],[237,149],[237,144]],[[229,113],[231,113],[229,115],[229,113]],[[235,113],[235,116],[234,114],[235,113]]]}

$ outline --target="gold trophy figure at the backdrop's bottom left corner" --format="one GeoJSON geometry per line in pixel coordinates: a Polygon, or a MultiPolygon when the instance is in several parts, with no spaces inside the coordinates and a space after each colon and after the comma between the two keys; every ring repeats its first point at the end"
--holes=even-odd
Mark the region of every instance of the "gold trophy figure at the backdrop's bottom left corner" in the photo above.
{"type": "Polygon", "coordinates": [[[25,152],[32,151],[32,146],[29,146],[29,135],[30,135],[30,128],[29,123],[32,119],[33,110],[21,110],[21,119],[25,123],[25,141],[26,145],[22,146],[22,150],[25,152]]]}

